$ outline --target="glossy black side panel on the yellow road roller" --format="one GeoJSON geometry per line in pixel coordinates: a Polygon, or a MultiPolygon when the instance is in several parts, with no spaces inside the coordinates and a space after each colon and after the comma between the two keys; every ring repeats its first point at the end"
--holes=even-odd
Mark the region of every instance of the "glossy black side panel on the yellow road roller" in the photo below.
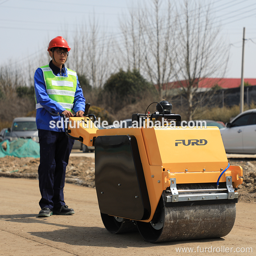
{"type": "Polygon", "coordinates": [[[96,138],[95,185],[101,213],[136,220],[150,216],[150,201],[134,136],[96,138]]]}

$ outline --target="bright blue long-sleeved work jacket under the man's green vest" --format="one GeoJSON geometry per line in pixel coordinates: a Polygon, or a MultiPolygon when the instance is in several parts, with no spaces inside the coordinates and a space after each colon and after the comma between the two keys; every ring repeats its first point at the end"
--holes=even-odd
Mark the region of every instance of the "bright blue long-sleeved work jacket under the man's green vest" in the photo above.
{"type": "MultiPolygon", "coordinates": [[[[49,67],[53,70],[53,73],[57,76],[67,76],[67,68],[62,65],[62,69],[60,70],[58,67],[53,65],[52,61],[49,63],[49,67]]],[[[85,109],[85,98],[83,95],[82,88],[79,84],[78,78],[76,76],[76,91],[75,97],[73,102],[73,111],[76,113],[79,110],[84,111],[85,109]]],[[[57,124],[57,121],[61,120],[59,114],[61,114],[64,109],[60,104],[58,104],[55,100],[52,100],[47,92],[46,92],[46,85],[44,82],[44,75],[41,68],[38,68],[35,71],[34,75],[34,86],[35,86],[35,97],[37,99],[37,103],[40,103],[43,108],[37,109],[36,115],[36,123],[38,129],[43,130],[50,130],[50,131],[58,131],[62,132],[62,128],[58,128],[57,125],[53,127],[53,123],[57,124]],[[51,122],[54,121],[54,122],[51,122]],[[51,122],[51,123],[50,123],[51,122]]]]}

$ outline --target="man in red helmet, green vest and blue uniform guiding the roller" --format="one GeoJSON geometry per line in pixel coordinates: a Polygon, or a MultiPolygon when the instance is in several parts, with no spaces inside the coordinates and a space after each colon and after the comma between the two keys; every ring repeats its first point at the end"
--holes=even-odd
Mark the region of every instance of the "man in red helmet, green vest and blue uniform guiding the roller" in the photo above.
{"type": "Polygon", "coordinates": [[[42,196],[38,217],[74,214],[74,210],[65,204],[63,195],[66,167],[74,141],[66,136],[63,127],[51,125],[61,120],[60,114],[66,117],[73,116],[71,111],[76,116],[84,114],[85,98],[76,72],[64,65],[69,51],[70,47],[62,37],[51,40],[48,52],[52,60],[49,65],[38,68],[34,75],[42,196]]]}

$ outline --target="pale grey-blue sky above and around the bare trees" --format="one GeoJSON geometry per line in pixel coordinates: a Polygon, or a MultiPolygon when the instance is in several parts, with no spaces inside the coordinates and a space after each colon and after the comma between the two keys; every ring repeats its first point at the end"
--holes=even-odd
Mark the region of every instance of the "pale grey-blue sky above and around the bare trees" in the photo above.
{"type": "MultiPolygon", "coordinates": [[[[0,66],[10,61],[25,65],[28,59],[47,51],[51,39],[67,33],[72,37],[76,28],[93,17],[107,34],[113,33],[118,39],[119,19],[128,15],[132,2],[137,1],[142,0],[0,0],[0,66]]],[[[245,27],[244,77],[256,78],[256,1],[212,0],[211,3],[216,20],[222,25],[223,38],[230,46],[225,77],[241,77],[245,27]]]]}

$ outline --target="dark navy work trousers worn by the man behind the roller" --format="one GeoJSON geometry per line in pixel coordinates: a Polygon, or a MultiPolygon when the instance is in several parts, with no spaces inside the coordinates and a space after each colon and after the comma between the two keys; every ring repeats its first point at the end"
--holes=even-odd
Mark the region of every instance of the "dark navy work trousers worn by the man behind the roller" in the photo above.
{"type": "Polygon", "coordinates": [[[38,167],[39,189],[42,208],[57,210],[65,205],[63,188],[66,167],[74,140],[65,132],[38,129],[40,165],[38,167]]]}

